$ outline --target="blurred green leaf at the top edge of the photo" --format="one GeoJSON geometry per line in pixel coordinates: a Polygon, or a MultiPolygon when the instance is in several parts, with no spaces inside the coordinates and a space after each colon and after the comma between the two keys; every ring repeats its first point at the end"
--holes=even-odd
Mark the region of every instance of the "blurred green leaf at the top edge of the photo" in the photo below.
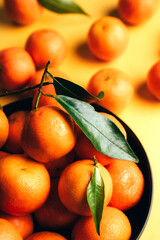
{"type": "Polygon", "coordinates": [[[50,11],[56,13],[81,13],[88,15],[80,6],[72,0],[38,0],[38,2],[50,11]]]}

